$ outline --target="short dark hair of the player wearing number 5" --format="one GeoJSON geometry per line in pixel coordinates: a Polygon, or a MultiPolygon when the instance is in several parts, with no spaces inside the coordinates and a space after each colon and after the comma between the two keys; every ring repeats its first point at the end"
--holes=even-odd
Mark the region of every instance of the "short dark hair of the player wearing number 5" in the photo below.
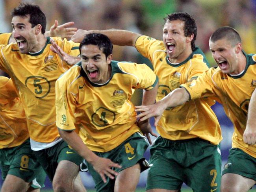
{"type": "Polygon", "coordinates": [[[11,12],[11,16],[28,17],[30,16],[29,22],[32,28],[37,24],[42,26],[42,33],[45,34],[46,28],[46,17],[40,7],[33,3],[20,3],[19,6],[15,7],[11,12]]]}

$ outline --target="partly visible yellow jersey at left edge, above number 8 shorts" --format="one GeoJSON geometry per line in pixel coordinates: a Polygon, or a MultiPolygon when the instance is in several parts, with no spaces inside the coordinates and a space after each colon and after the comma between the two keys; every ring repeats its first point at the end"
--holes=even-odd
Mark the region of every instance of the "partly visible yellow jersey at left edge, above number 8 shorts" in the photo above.
{"type": "Polygon", "coordinates": [[[0,149],[19,146],[28,137],[25,113],[13,82],[0,76],[0,149]]]}

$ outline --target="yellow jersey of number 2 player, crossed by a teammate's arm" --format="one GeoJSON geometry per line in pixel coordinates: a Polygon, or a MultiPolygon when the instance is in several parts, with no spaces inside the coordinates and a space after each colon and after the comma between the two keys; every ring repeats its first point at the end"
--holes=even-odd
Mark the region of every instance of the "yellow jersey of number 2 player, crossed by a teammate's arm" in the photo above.
{"type": "MultiPolygon", "coordinates": [[[[208,69],[206,57],[199,48],[182,63],[173,64],[167,57],[163,41],[141,36],[135,46],[139,53],[151,61],[154,73],[159,78],[156,101],[179,88],[181,84],[196,79],[208,69]]],[[[199,137],[212,144],[219,144],[222,139],[221,129],[217,117],[211,110],[214,103],[215,101],[209,98],[198,98],[168,108],[163,112],[156,130],[161,137],[169,140],[199,137]]]]}

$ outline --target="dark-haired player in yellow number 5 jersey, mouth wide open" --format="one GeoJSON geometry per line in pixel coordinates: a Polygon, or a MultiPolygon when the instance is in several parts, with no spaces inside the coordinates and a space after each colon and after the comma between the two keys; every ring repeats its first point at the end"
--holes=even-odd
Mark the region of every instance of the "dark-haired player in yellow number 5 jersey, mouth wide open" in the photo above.
{"type": "MultiPolygon", "coordinates": [[[[9,74],[18,90],[31,148],[52,181],[54,191],[83,192],[85,188],[78,175],[83,159],[63,141],[55,125],[55,81],[72,65],[62,62],[50,50],[50,37],[44,35],[45,14],[39,6],[20,4],[13,9],[12,17],[17,44],[0,45],[0,68],[9,74]]],[[[69,54],[79,55],[79,44],[53,39],[69,54]]],[[[109,168],[112,165],[109,164],[102,169],[109,168]]]]}

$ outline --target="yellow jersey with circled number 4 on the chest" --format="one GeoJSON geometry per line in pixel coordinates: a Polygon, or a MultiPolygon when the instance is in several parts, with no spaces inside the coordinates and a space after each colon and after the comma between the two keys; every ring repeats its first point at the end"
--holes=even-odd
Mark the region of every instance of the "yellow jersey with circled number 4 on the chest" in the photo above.
{"type": "Polygon", "coordinates": [[[92,151],[110,151],[140,132],[130,101],[134,90],[150,90],[157,82],[145,64],[111,61],[109,81],[92,83],[80,62],[56,81],[56,125],[64,130],[77,128],[92,151]]]}

